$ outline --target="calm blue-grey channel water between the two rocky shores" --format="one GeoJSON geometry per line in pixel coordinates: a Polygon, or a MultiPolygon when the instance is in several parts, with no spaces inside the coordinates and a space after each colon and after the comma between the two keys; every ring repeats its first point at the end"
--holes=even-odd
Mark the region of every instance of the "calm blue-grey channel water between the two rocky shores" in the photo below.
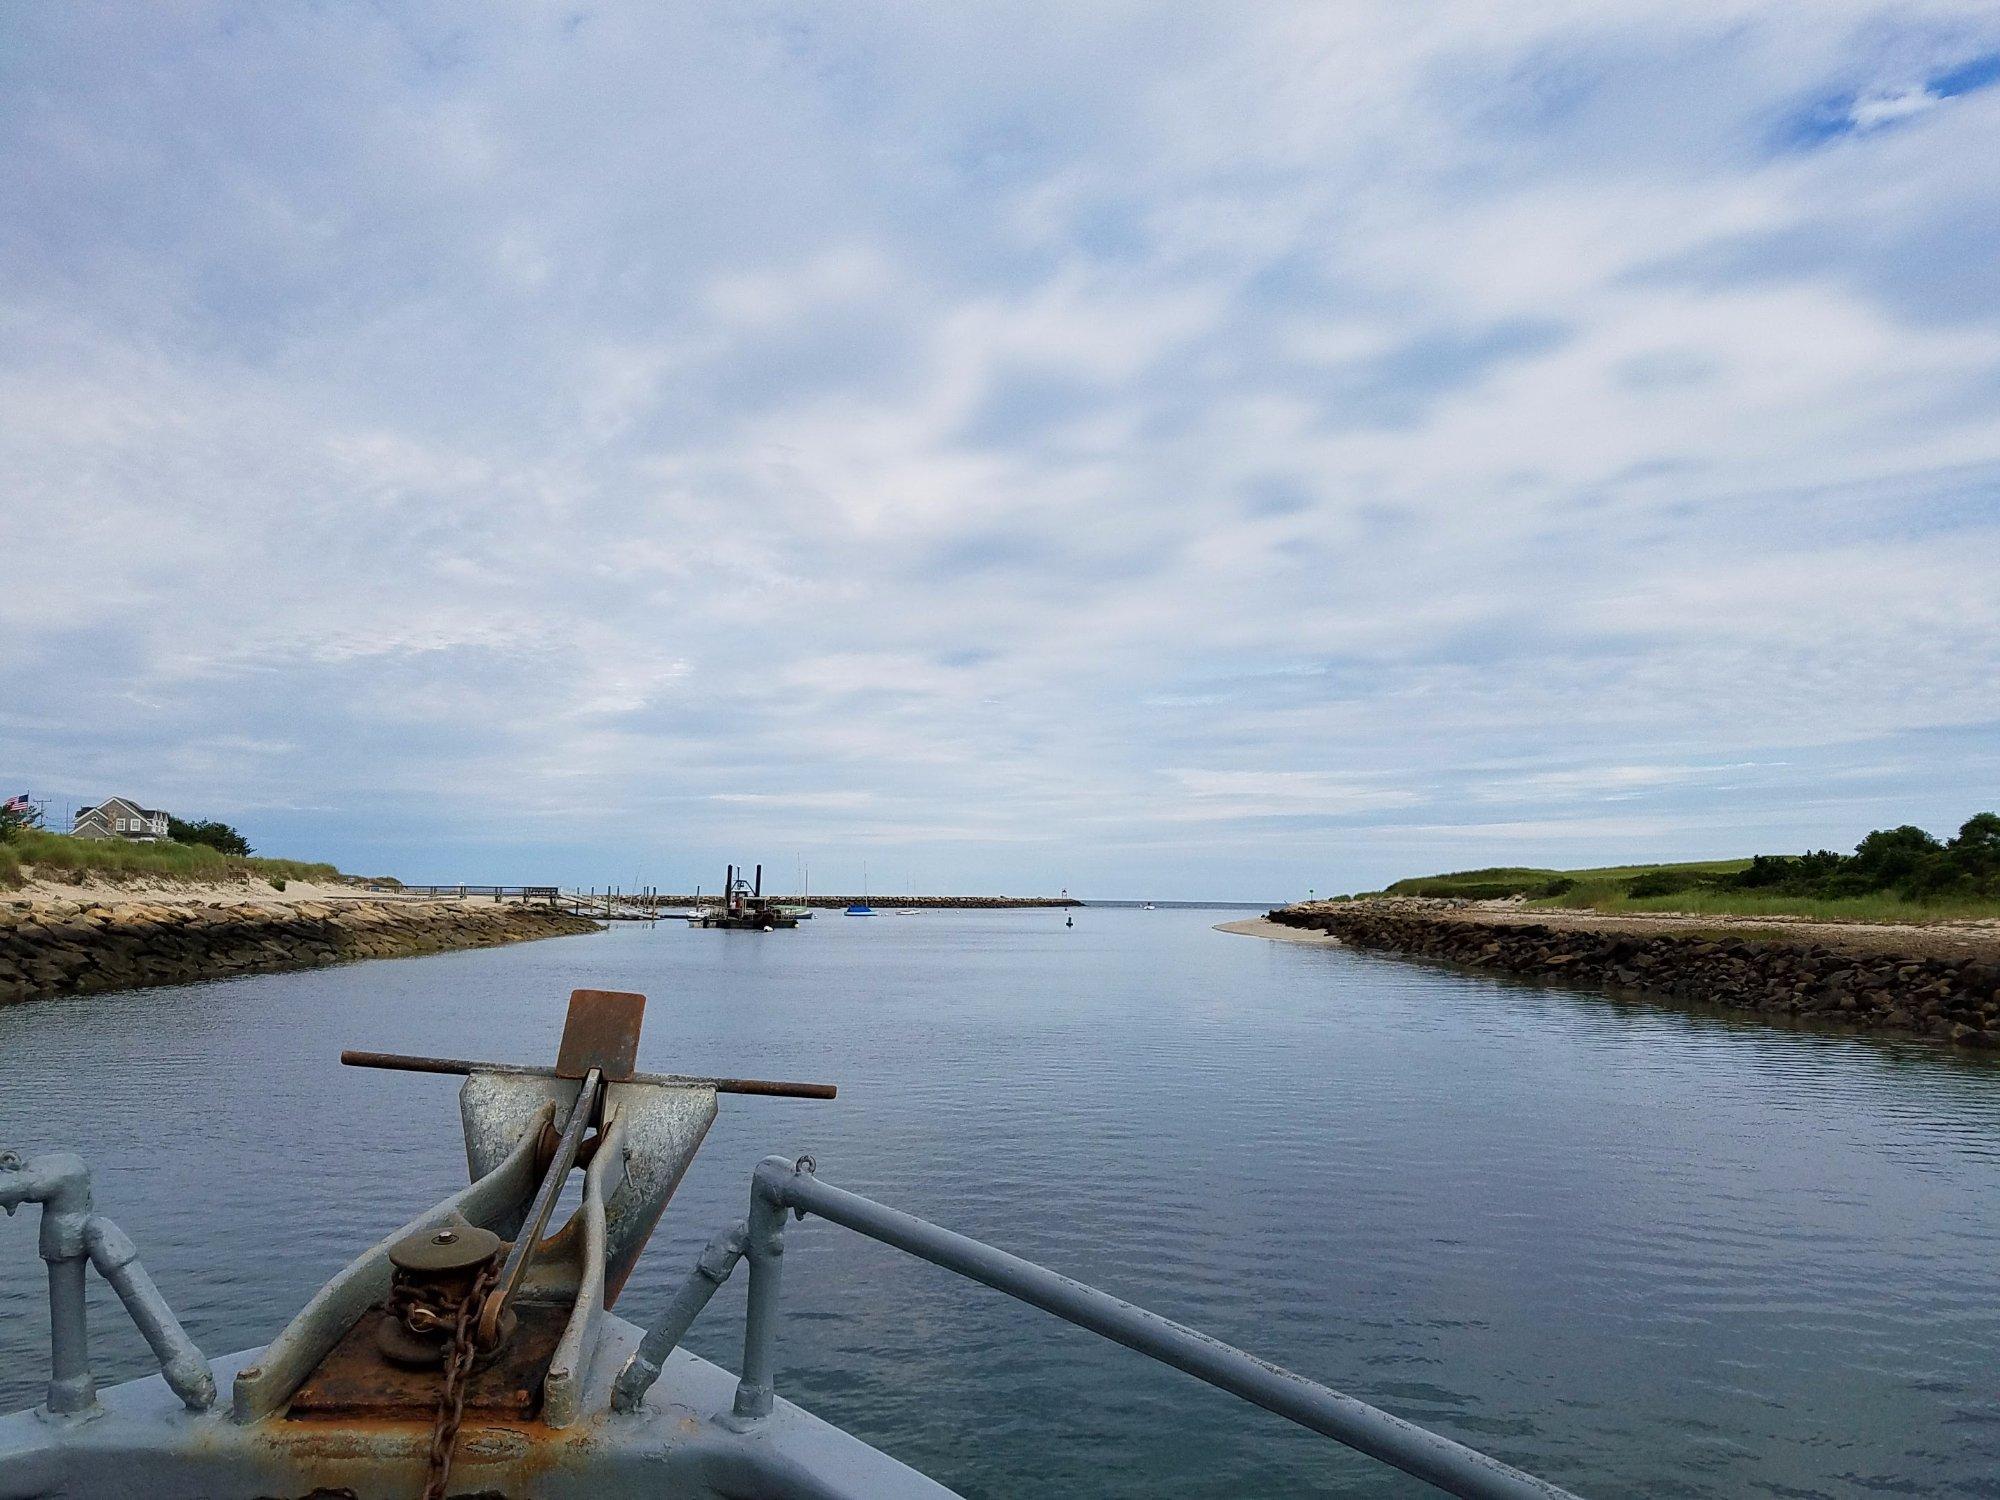
{"type": "MultiPolygon", "coordinates": [[[[724,1100],[620,1312],[766,1152],[1208,1328],[1584,1494],[2000,1496],[2000,1068],[1210,930],[1216,912],[822,916],[0,1010],[0,1144],[74,1146],[210,1350],[462,1182],[454,1082],[574,986],[724,1100]]],[[[780,1390],[970,1496],[1428,1494],[824,1222],[780,1390]]],[[[42,1266],[0,1220],[0,1410],[42,1266]]],[[[102,1292],[102,1288],[100,1288],[102,1292]]],[[[736,1364],[742,1278],[690,1344],[736,1364]]],[[[100,1376],[144,1350],[102,1296],[100,1376]]]]}

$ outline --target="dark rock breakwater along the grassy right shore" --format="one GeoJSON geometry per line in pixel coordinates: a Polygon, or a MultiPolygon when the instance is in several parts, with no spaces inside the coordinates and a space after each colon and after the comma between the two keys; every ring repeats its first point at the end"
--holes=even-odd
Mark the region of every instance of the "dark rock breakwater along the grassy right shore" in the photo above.
{"type": "Polygon", "coordinates": [[[1840,1022],[1890,1036],[2000,1048],[2000,960],[1914,958],[1810,938],[1572,930],[1480,920],[1466,908],[1348,902],[1290,906],[1272,922],[1350,948],[1438,958],[1530,980],[1632,990],[1764,1016],[1840,1022]]]}

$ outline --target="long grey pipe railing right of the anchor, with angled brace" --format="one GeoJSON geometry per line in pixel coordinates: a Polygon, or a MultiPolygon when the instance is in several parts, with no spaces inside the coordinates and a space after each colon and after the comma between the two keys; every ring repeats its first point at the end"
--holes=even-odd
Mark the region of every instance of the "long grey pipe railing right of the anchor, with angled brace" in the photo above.
{"type": "Polygon", "coordinates": [[[1304,1376],[1246,1354],[1232,1344],[1138,1308],[1094,1286],[1058,1276],[1032,1260],[904,1214],[872,1198],[844,1192],[814,1176],[812,1158],[766,1156],[750,1186],[750,1216],[718,1234],[696,1260],[660,1322],[646,1334],[612,1390],[612,1408],[636,1412],[716,1288],[736,1262],[750,1260],[750,1306],[744,1316],[744,1368],[730,1422],[750,1426],[776,1400],[778,1286],[784,1266],[786,1214],[818,1214],[856,1234],[904,1250],[932,1266],[958,1272],[996,1292],[1052,1312],[1148,1358],[1206,1380],[1268,1412],[1334,1438],[1384,1464],[1474,1500],[1576,1500],[1532,1474],[1404,1422],[1354,1396],[1342,1396],[1304,1376]]]}

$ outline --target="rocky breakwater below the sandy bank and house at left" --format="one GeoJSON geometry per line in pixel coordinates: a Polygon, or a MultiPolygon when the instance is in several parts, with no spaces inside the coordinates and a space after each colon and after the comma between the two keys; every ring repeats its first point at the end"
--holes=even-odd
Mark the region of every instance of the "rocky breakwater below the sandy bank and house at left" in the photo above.
{"type": "Polygon", "coordinates": [[[546,906],[470,902],[8,902],[0,1004],[596,930],[546,906]]]}

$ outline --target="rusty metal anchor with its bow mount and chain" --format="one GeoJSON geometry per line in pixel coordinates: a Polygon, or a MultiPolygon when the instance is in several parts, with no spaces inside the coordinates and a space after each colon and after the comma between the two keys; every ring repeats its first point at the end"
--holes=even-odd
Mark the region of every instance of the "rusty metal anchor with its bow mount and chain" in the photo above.
{"type": "MultiPolygon", "coordinates": [[[[718,1094],[830,1100],[834,1084],[638,1072],[646,996],[576,990],[554,1066],[346,1050],[456,1074],[472,1184],[336,1276],[236,1380],[238,1420],[410,1416],[438,1400],[562,1428],[608,1378],[608,1308],[716,1118],[718,1094]],[[582,1202],[550,1216],[570,1174],[582,1202]]],[[[622,1360],[622,1352],[616,1352],[622,1360]]]]}

